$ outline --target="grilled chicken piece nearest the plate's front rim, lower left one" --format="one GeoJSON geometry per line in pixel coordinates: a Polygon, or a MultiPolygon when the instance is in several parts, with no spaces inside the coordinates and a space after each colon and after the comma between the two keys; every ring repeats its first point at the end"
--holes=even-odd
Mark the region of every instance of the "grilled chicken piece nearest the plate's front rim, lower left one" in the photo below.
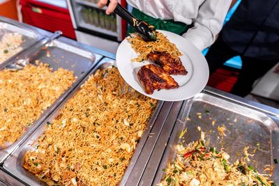
{"type": "Polygon", "coordinates": [[[152,64],[142,66],[137,72],[137,77],[148,94],[152,94],[154,90],[179,87],[179,84],[163,68],[152,64]]]}

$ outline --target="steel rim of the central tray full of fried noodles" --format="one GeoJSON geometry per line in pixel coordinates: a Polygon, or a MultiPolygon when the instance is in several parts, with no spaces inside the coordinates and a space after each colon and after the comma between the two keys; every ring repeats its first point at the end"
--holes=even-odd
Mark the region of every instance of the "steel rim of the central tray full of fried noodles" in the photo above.
{"type": "MultiPolygon", "coordinates": [[[[27,185],[45,185],[45,183],[38,181],[38,179],[32,173],[29,173],[28,171],[22,168],[22,165],[24,163],[24,154],[27,152],[27,150],[34,149],[33,141],[36,141],[36,139],[38,139],[38,137],[40,137],[40,135],[43,134],[43,132],[45,131],[45,125],[47,125],[47,121],[51,122],[57,116],[57,114],[59,114],[59,109],[61,109],[61,107],[63,107],[63,105],[66,104],[66,102],[70,98],[72,98],[73,95],[75,95],[75,93],[80,89],[80,86],[84,84],[86,79],[88,79],[90,75],[96,72],[96,70],[110,68],[112,67],[112,65],[116,65],[115,61],[113,61],[112,59],[105,58],[102,61],[100,61],[98,65],[96,65],[96,67],[89,73],[89,75],[87,75],[87,77],[77,87],[75,87],[72,93],[70,93],[70,95],[68,95],[68,97],[65,100],[63,100],[59,107],[57,107],[56,110],[53,111],[52,114],[45,119],[43,125],[40,125],[36,129],[36,131],[33,132],[33,134],[31,134],[31,136],[26,141],[24,141],[24,143],[17,150],[15,150],[15,152],[12,155],[10,155],[10,157],[8,157],[8,159],[3,164],[3,169],[13,174],[13,176],[18,178],[19,180],[22,180],[22,182],[24,182],[27,185]]],[[[161,113],[160,111],[165,109],[168,113],[171,104],[171,102],[158,102],[158,104],[156,105],[156,109],[153,112],[153,115],[147,125],[146,130],[144,131],[144,134],[142,135],[142,138],[140,139],[139,144],[137,144],[137,148],[135,149],[133,157],[129,162],[128,168],[126,169],[126,172],[123,175],[120,185],[125,185],[126,179],[130,176],[131,171],[135,167],[135,164],[138,158],[140,157],[142,148],[144,144],[146,144],[146,140],[150,135],[152,135],[151,130],[153,129],[153,127],[155,127],[156,125],[161,125],[161,121],[167,117],[167,114],[165,112],[161,113]]],[[[156,134],[153,135],[156,136],[156,134]]]]}

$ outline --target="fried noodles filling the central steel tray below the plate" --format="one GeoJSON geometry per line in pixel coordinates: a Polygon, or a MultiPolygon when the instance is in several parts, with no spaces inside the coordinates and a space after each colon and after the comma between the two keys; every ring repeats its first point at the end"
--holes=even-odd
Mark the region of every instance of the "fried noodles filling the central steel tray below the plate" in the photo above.
{"type": "Polygon", "coordinates": [[[155,104],[116,68],[98,70],[47,123],[24,168],[48,185],[117,185],[155,104]]]}

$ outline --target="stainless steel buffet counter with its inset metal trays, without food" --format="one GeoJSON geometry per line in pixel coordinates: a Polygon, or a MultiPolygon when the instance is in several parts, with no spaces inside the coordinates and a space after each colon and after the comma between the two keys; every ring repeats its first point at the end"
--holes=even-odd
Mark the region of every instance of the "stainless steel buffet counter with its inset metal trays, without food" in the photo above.
{"type": "MultiPolygon", "coordinates": [[[[1,70],[17,68],[22,65],[21,61],[36,64],[40,60],[54,70],[60,67],[73,70],[77,77],[73,85],[45,110],[20,139],[0,148],[0,185],[45,185],[22,167],[24,154],[34,148],[33,141],[43,134],[45,126],[52,122],[91,75],[116,66],[115,55],[63,37],[39,45],[40,40],[52,38],[53,33],[4,17],[0,17],[0,26],[1,22],[20,25],[41,36],[27,49],[5,61],[0,66],[1,70]]],[[[207,86],[189,100],[158,102],[155,105],[119,185],[160,183],[163,169],[175,157],[176,144],[199,139],[201,130],[205,132],[206,146],[225,148],[232,161],[243,155],[243,148],[250,148],[249,152],[254,153],[250,157],[252,164],[260,172],[266,164],[274,166],[271,178],[279,183],[279,166],[275,161],[279,160],[279,110],[207,86]],[[220,127],[225,128],[223,135],[218,131],[220,127]],[[188,132],[181,136],[186,129],[188,132]]]]}

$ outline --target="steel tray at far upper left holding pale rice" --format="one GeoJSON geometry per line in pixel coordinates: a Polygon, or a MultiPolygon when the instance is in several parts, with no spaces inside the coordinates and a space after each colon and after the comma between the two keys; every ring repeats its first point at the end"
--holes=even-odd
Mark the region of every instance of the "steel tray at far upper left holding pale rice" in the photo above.
{"type": "Polygon", "coordinates": [[[13,60],[18,54],[21,54],[29,49],[29,47],[36,44],[36,42],[43,40],[43,38],[46,37],[45,35],[47,35],[46,32],[39,31],[39,29],[33,29],[26,24],[20,24],[19,22],[0,16],[0,39],[4,33],[20,33],[23,36],[24,42],[21,45],[22,50],[20,52],[11,56],[6,61],[0,61],[0,68],[6,65],[10,60],[13,60]]]}

